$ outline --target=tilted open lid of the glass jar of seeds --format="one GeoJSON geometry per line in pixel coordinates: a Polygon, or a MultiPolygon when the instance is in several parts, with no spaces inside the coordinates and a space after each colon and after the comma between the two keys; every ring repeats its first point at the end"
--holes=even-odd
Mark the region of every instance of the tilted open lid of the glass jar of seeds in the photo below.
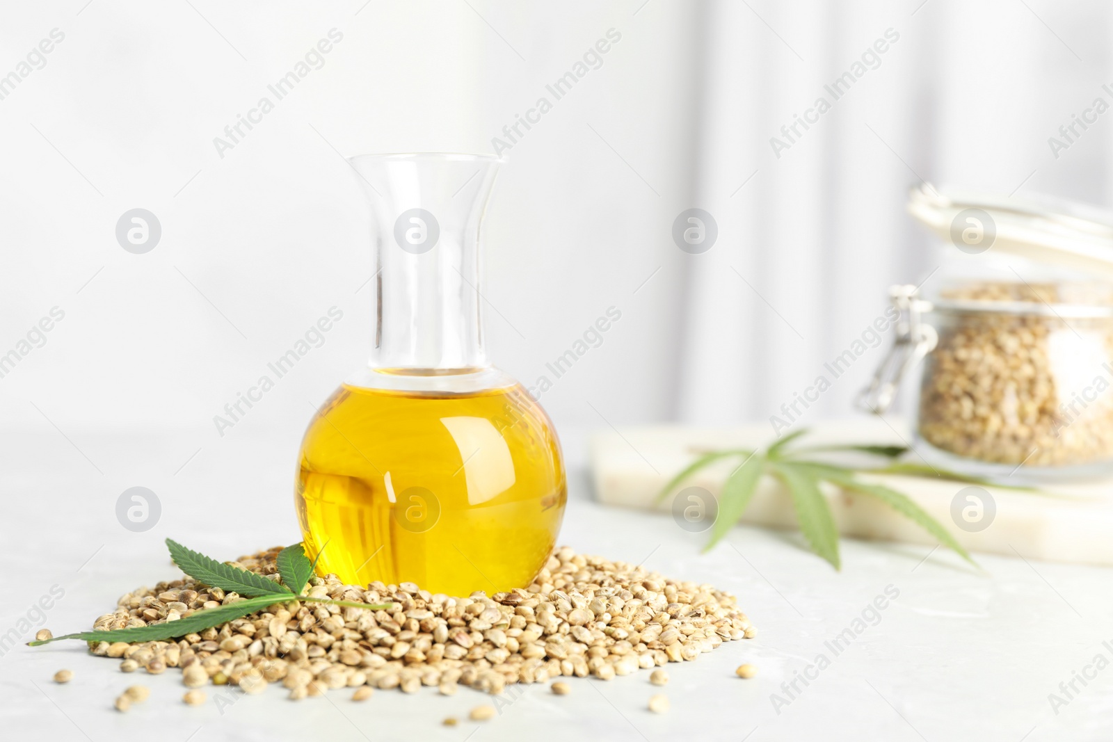
{"type": "Polygon", "coordinates": [[[976,255],[991,248],[1113,281],[1113,211],[1051,197],[1013,198],[920,184],[908,212],[976,255]]]}

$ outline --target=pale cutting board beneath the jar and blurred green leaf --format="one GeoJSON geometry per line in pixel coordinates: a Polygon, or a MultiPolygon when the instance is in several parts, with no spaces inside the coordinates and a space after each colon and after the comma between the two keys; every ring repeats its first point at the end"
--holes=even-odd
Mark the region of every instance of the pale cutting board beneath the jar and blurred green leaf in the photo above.
{"type": "MultiPolygon", "coordinates": [[[[899,425],[864,418],[812,427],[805,443],[902,444],[910,436],[899,425]]],[[[590,454],[597,498],[608,505],[654,508],[653,499],[668,481],[700,452],[721,448],[755,448],[771,438],[768,425],[729,429],[660,426],[622,428],[595,434],[590,454]]],[[[910,461],[918,461],[913,457],[910,461]]],[[[719,462],[696,474],[684,486],[700,486],[718,496],[721,483],[737,462],[719,462]]],[[[1113,565],[1113,481],[1090,481],[1045,486],[1040,492],[983,487],[995,514],[981,531],[958,527],[953,503],[972,501],[959,495],[971,485],[945,479],[908,476],[871,476],[899,489],[949,530],[972,552],[1008,556],[1113,565]]],[[[934,545],[937,542],[914,523],[896,515],[870,497],[824,485],[839,531],[846,536],[934,545]]],[[[671,512],[673,496],[657,506],[671,512]]],[[[984,511],[983,511],[984,513],[984,511]]],[[[969,511],[968,515],[976,515],[969,511]]],[[[664,515],[669,517],[669,515],[664,515]]],[[[983,514],[983,518],[985,515],[983,514]]],[[[777,528],[796,528],[788,494],[771,477],[764,477],[742,521],[777,528]]],[[[977,525],[981,525],[979,523],[977,525]]]]}

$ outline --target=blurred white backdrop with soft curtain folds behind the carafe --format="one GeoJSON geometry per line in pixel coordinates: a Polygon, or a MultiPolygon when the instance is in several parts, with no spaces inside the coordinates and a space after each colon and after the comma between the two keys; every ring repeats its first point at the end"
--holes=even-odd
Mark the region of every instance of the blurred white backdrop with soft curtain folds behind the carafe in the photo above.
{"type": "MultiPolygon", "coordinates": [[[[506,152],[486,222],[489,352],[523,382],[622,311],[545,395],[558,425],[777,412],[889,284],[938,265],[903,211],[920,178],[1109,200],[1107,121],[1047,145],[1109,98],[1096,2],[10,3],[0,73],[53,28],[0,101],[0,352],[67,314],[0,379],[0,418],[79,446],[156,422],[198,446],[296,438],[370,342],[371,227],[341,154],[491,151],[611,28],[506,152]],[[221,159],[214,137],[332,28],[324,67],[221,159]],[[880,66],[777,158],[770,137],[887,29],[880,66]],[[671,239],[693,206],[719,226],[696,256],[671,239]],[[162,225],[141,256],[115,239],[136,207],[162,225]],[[334,305],[326,345],[221,441],[213,416],[334,305]]],[[[809,415],[848,414],[880,353],[809,415]]]]}

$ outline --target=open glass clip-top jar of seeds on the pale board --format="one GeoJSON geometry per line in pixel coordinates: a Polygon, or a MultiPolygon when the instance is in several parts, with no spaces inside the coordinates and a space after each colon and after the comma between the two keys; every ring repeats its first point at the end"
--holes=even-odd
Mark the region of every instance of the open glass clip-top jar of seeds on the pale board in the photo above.
{"type": "Polygon", "coordinates": [[[928,463],[1014,483],[1113,473],[1113,283],[1096,265],[1113,230],[930,186],[910,210],[958,259],[945,258],[938,288],[890,289],[896,342],[859,406],[887,410],[923,358],[913,447],[928,463]]]}

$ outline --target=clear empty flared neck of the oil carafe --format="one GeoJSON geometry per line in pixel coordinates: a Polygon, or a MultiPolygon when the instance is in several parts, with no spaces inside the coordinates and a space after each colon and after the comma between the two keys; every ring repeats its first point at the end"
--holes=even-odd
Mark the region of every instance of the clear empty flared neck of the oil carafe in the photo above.
{"type": "Polygon", "coordinates": [[[352,165],[374,221],[371,367],[415,376],[486,367],[480,229],[498,160],[367,155],[352,165]]]}

